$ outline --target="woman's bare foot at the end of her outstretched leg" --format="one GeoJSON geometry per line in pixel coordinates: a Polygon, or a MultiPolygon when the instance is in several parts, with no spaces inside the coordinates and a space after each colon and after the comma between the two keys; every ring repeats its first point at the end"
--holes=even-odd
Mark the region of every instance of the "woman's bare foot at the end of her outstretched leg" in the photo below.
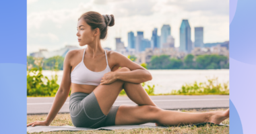
{"type": "Polygon", "coordinates": [[[214,111],[207,122],[220,124],[225,119],[229,118],[229,109],[226,111],[214,111]]]}

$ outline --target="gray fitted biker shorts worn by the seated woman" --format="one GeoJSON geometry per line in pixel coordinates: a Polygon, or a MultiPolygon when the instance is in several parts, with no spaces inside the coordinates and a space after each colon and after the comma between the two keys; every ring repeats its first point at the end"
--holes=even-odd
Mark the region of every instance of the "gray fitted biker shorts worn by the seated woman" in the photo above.
{"type": "Polygon", "coordinates": [[[98,128],[115,125],[118,109],[119,106],[112,106],[108,115],[104,115],[94,92],[74,92],[69,98],[69,112],[75,127],[98,128]]]}

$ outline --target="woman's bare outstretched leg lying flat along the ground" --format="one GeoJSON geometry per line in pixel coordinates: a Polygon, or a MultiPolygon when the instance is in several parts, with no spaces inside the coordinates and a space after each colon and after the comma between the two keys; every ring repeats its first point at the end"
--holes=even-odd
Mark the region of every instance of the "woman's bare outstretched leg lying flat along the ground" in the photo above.
{"type": "Polygon", "coordinates": [[[229,109],[226,111],[213,111],[206,113],[185,113],[180,111],[167,111],[148,105],[121,105],[117,111],[115,125],[160,123],[164,125],[177,126],[205,122],[220,124],[228,117],[229,109]]]}

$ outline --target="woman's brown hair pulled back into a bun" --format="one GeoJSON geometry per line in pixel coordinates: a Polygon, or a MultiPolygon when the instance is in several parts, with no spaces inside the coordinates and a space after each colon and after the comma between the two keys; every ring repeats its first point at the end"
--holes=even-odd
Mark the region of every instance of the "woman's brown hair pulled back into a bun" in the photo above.
{"type": "MultiPolygon", "coordinates": [[[[115,25],[115,19],[114,19],[114,15],[110,15],[110,16],[111,16],[111,21],[108,26],[112,27],[113,25],[115,25]]],[[[100,39],[106,38],[106,34],[108,31],[106,26],[107,23],[104,17],[100,13],[96,11],[88,11],[82,14],[81,17],[78,18],[78,20],[81,18],[83,18],[84,21],[86,21],[86,23],[88,23],[88,25],[90,25],[92,29],[96,29],[97,27],[100,29],[100,39]]]]}

